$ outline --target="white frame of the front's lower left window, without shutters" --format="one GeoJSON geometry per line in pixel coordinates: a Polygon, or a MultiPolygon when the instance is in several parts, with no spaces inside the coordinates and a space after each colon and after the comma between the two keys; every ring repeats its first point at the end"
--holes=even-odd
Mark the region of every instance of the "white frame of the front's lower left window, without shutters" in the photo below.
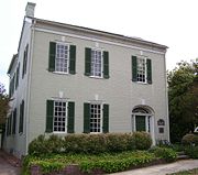
{"type": "MultiPolygon", "coordinates": [[[[54,100],[54,113],[53,113],[53,133],[67,133],[67,107],[68,107],[68,102],[67,101],[65,101],[65,100],[59,100],[59,99],[57,99],[57,100],[54,100]],[[65,131],[54,131],[54,123],[55,123],[55,108],[56,108],[56,106],[55,106],[55,102],[65,102],[65,131]]],[[[63,118],[63,116],[62,116],[62,118],[63,118]]],[[[57,121],[58,122],[58,121],[57,121]]],[[[57,128],[58,128],[58,125],[57,125],[57,128]]]]}

